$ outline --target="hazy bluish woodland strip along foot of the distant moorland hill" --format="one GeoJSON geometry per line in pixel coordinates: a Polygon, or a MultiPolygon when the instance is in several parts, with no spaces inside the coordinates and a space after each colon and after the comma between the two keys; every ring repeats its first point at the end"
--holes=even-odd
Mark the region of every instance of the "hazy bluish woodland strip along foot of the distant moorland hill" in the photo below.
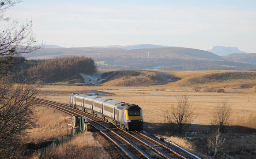
{"type": "Polygon", "coordinates": [[[162,70],[251,70],[255,69],[255,64],[237,63],[227,60],[209,59],[169,59],[169,58],[131,58],[113,57],[95,61],[105,61],[104,64],[98,63],[99,69],[119,69],[119,70],[145,70],[160,67],[162,70]]]}

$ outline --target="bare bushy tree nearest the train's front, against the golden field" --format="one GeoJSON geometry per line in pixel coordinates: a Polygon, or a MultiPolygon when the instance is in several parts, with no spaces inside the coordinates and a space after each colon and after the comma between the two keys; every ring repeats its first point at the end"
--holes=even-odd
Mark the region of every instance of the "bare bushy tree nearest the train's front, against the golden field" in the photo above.
{"type": "Polygon", "coordinates": [[[192,105],[188,101],[188,96],[177,98],[177,105],[172,105],[170,111],[164,111],[163,117],[165,123],[174,128],[178,133],[182,133],[185,129],[188,129],[195,119],[192,105]]]}

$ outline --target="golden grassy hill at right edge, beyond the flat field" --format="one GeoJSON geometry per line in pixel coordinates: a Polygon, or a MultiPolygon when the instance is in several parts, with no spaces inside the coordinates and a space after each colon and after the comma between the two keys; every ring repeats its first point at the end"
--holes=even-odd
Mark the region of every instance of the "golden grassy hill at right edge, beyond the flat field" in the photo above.
{"type": "Polygon", "coordinates": [[[169,82],[169,86],[195,85],[201,87],[250,89],[256,85],[255,71],[154,71],[173,75],[181,80],[169,82]]]}

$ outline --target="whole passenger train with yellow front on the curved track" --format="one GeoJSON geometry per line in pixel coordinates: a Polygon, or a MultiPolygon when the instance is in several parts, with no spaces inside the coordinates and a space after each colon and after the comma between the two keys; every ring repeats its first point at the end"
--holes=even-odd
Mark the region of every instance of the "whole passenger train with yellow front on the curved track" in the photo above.
{"type": "Polygon", "coordinates": [[[102,118],[124,131],[143,130],[143,111],[138,105],[79,93],[72,93],[69,103],[70,107],[102,118]]]}

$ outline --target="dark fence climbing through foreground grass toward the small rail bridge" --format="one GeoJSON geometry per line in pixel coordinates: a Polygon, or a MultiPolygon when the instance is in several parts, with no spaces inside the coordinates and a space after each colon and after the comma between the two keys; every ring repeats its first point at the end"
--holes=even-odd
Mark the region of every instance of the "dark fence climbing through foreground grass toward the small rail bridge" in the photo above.
{"type": "Polygon", "coordinates": [[[47,147],[41,149],[40,155],[38,155],[38,159],[45,159],[45,158],[46,158],[47,151],[48,151],[50,148],[53,148],[54,146],[57,147],[57,146],[59,146],[60,144],[63,144],[64,142],[69,141],[72,137],[73,137],[73,132],[70,131],[70,132],[68,132],[66,135],[64,135],[64,136],[62,136],[62,137],[56,138],[56,140],[53,141],[52,144],[50,144],[49,146],[47,146],[47,147]]]}

